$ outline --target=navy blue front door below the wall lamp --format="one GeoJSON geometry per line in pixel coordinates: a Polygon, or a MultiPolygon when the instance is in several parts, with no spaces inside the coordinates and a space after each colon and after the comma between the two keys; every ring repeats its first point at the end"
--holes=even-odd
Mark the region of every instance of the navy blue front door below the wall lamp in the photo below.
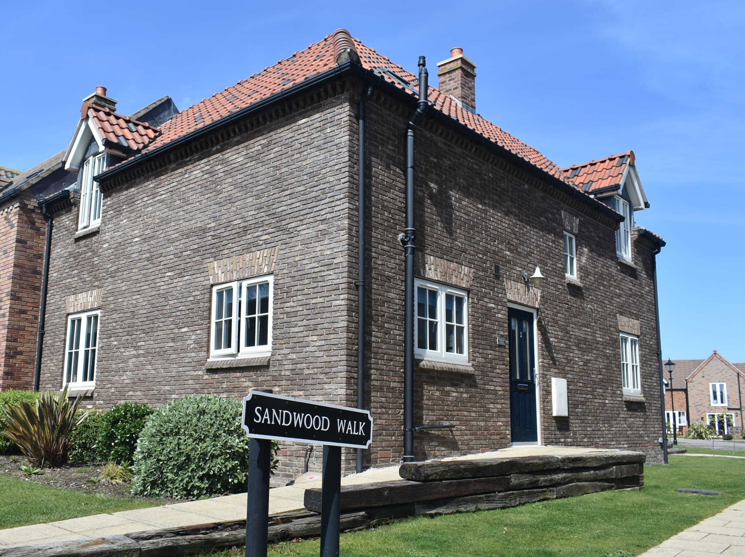
{"type": "Polygon", "coordinates": [[[513,443],[538,441],[533,314],[510,308],[510,416],[513,443]]]}

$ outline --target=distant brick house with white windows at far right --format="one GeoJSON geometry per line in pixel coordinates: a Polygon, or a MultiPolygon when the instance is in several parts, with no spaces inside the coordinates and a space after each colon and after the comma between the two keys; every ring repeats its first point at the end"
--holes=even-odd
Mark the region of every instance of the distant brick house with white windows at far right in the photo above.
{"type": "Polygon", "coordinates": [[[745,387],[745,363],[732,364],[717,350],[707,359],[676,359],[673,362],[673,400],[670,376],[665,373],[668,422],[673,418],[671,403],[674,403],[679,432],[685,433],[694,421],[711,424],[718,435],[744,431],[742,391],[745,387]]]}

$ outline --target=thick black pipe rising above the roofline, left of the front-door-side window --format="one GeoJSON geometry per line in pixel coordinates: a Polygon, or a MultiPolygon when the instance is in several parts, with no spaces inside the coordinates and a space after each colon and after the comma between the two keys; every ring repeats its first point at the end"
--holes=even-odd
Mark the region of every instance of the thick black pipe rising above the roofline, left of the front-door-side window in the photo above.
{"type": "Polygon", "coordinates": [[[427,112],[428,72],[419,57],[419,103],[406,128],[406,227],[399,235],[404,246],[404,462],[414,460],[414,129],[427,112]]]}

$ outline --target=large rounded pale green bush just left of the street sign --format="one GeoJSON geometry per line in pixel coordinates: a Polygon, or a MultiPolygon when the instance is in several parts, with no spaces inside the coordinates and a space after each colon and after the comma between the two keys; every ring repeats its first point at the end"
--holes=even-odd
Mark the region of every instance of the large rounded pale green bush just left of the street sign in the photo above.
{"type": "Polygon", "coordinates": [[[183,499],[245,491],[248,447],[239,400],[210,395],[174,400],[156,410],[142,430],[132,492],[183,499]]]}

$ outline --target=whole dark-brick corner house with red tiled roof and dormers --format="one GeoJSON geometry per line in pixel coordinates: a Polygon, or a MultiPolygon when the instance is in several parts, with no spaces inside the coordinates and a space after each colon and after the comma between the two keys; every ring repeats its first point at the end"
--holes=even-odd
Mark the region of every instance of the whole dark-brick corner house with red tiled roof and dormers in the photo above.
{"type": "MultiPolygon", "coordinates": [[[[127,152],[115,142],[136,123],[89,98],[64,156],[79,185],[45,198],[42,388],[69,383],[96,407],[253,387],[355,406],[359,392],[375,419],[365,466],[402,458],[409,395],[416,459],[527,443],[659,462],[665,242],[635,224],[633,152],[559,169],[475,112],[462,51],[438,66],[413,128],[416,76],[343,30],[139,129],[127,152]],[[102,148],[88,130],[104,120],[102,148]]],[[[282,447],[280,471],[304,457],[282,447]]]]}

